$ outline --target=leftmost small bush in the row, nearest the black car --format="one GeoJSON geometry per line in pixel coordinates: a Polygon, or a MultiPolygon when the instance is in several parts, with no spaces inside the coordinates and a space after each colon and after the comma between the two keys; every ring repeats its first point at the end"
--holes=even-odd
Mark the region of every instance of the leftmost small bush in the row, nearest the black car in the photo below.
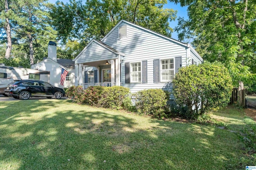
{"type": "Polygon", "coordinates": [[[69,98],[73,99],[75,103],[82,103],[83,98],[81,97],[84,94],[84,89],[82,86],[71,86],[66,90],[66,95],[69,98]]]}

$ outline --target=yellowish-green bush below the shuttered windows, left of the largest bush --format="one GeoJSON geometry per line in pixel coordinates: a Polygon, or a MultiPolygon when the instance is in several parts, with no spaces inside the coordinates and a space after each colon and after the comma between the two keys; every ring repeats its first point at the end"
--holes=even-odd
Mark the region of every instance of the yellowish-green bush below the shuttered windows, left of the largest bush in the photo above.
{"type": "Polygon", "coordinates": [[[140,114],[154,117],[165,116],[167,97],[164,90],[148,89],[134,94],[136,110],[140,114]]]}

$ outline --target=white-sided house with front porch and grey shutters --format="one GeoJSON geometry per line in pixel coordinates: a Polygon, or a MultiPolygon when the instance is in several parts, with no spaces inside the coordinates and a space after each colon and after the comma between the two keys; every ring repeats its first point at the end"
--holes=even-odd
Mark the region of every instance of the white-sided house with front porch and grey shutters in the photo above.
{"type": "Polygon", "coordinates": [[[101,41],[90,41],[73,61],[76,86],[116,85],[138,92],[171,91],[178,69],[203,59],[190,44],[121,20],[101,41]]]}

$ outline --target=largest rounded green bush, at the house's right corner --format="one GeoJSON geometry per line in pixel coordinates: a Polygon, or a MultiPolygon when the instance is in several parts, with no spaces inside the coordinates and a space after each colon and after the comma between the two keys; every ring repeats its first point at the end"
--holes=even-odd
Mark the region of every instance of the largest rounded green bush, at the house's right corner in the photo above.
{"type": "Polygon", "coordinates": [[[175,75],[173,94],[176,103],[188,106],[188,115],[197,119],[212,108],[224,107],[230,101],[232,80],[221,63],[190,65],[175,75]]]}

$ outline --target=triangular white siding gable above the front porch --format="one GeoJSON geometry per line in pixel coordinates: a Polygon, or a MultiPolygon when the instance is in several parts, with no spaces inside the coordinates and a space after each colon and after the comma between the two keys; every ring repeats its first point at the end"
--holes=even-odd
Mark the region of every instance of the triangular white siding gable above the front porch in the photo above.
{"type": "Polygon", "coordinates": [[[108,49],[92,42],[84,52],[76,59],[75,63],[90,63],[95,61],[116,59],[117,56],[108,49]]]}

